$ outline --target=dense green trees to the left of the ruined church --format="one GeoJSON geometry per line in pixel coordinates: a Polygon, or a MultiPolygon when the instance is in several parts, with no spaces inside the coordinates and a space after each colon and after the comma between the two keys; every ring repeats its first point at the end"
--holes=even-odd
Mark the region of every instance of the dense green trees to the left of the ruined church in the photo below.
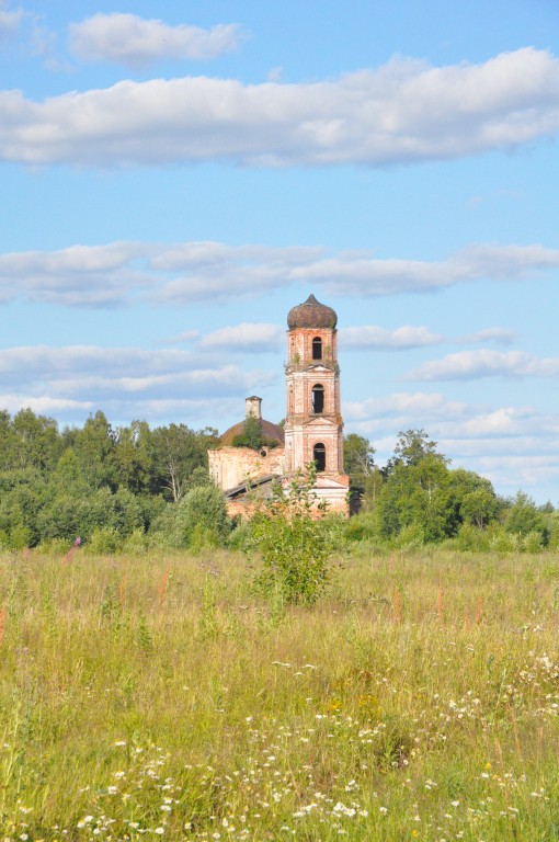
{"type": "Polygon", "coordinates": [[[103,412],[59,430],[31,409],[0,411],[0,546],[139,539],[208,486],[207,450],[218,441],[212,428],[113,428],[103,412]]]}

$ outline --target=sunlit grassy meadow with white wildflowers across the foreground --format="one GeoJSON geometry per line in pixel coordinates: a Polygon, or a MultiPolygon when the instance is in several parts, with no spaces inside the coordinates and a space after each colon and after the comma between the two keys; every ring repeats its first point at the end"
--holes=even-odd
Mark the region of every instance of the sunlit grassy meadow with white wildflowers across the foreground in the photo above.
{"type": "Polygon", "coordinates": [[[0,556],[2,840],[559,840],[559,559],[0,556]]]}

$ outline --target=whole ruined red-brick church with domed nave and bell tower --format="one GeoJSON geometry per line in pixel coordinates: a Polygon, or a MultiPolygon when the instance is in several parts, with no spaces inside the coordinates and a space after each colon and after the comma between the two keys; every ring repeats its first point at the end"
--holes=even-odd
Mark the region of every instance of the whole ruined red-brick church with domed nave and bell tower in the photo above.
{"type": "Polygon", "coordinates": [[[209,451],[209,471],[225,492],[229,514],[248,514],[254,490],[266,497],[274,481],[288,485],[311,462],[317,467],[317,503],[326,501],[328,511],[349,513],[336,322],[335,311],[313,295],[289,310],[283,428],[262,418],[262,400],[252,396],[246,400],[246,419],[258,422],[262,445],[242,446],[243,420],[209,451]]]}

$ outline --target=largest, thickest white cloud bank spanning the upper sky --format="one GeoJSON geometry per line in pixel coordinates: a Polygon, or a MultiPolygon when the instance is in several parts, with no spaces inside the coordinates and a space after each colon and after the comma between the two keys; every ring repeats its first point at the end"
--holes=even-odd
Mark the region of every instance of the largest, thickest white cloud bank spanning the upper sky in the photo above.
{"type": "Polygon", "coordinates": [[[395,58],[334,80],[122,81],[43,102],[4,91],[0,159],[21,163],[387,167],[514,149],[559,130],[559,60],[533,47],[481,65],[395,58]]]}

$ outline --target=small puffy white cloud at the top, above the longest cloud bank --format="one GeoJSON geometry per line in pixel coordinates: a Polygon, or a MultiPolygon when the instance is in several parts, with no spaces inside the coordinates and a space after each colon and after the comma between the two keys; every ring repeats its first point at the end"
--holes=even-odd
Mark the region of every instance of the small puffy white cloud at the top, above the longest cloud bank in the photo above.
{"type": "Polygon", "coordinates": [[[69,25],[70,50],[85,61],[114,61],[138,67],[159,59],[205,60],[230,53],[239,46],[237,24],[219,24],[210,30],[136,14],[113,12],[88,18],[69,25]]]}

